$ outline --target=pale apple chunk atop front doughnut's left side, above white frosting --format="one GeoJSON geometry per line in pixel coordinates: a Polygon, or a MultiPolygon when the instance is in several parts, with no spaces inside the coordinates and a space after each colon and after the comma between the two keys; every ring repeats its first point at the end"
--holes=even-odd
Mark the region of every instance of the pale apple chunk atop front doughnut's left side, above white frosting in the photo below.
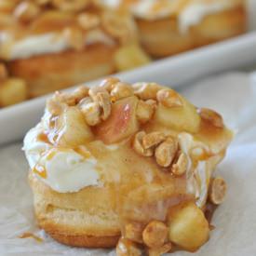
{"type": "Polygon", "coordinates": [[[93,134],[77,107],[68,107],[58,120],[59,146],[78,146],[92,140],[93,134]]]}

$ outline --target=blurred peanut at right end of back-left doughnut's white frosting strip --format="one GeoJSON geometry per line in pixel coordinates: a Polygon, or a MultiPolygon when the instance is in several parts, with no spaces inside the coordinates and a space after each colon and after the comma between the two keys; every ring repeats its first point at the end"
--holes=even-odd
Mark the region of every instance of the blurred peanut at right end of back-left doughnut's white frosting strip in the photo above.
{"type": "Polygon", "coordinates": [[[80,50],[85,46],[85,36],[79,28],[68,27],[64,29],[63,35],[68,40],[70,47],[80,50]]]}

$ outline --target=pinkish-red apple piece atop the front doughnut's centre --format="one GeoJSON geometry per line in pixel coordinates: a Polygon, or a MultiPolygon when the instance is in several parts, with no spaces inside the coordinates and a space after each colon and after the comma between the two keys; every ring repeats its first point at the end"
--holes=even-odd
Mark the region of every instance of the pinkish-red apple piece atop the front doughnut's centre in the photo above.
{"type": "Polygon", "coordinates": [[[122,141],[138,131],[137,104],[138,98],[135,96],[116,101],[112,106],[111,115],[96,128],[99,139],[111,144],[122,141]]]}

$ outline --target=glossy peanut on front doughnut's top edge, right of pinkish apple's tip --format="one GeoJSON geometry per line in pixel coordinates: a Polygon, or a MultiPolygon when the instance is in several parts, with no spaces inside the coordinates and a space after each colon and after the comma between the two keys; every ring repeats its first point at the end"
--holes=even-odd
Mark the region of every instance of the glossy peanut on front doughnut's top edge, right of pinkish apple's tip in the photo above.
{"type": "Polygon", "coordinates": [[[156,93],[161,87],[155,83],[133,84],[134,94],[141,100],[156,100],[156,93]]]}

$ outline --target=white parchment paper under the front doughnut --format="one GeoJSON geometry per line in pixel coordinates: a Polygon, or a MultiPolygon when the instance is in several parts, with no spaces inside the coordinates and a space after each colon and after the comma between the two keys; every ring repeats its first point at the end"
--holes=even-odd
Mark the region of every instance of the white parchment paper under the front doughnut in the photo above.
{"type": "MultiPolygon", "coordinates": [[[[195,256],[256,255],[256,78],[223,74],[209,78],[183,94],[198,106],[221,112],[236,129],[236,140],[219,167],[228,183],[225,202],[213,218],[209,242],[195,256]]],[[[62,246],[39,230],[34,220],[28,166],[21,144],[0,148],[0,255],[115,255],[114,250],[62,246]],[[19,238],[32,232],[43,239],[19,238]]],[[[174,256],[191,255],[176,252],[174,256]]]]}

